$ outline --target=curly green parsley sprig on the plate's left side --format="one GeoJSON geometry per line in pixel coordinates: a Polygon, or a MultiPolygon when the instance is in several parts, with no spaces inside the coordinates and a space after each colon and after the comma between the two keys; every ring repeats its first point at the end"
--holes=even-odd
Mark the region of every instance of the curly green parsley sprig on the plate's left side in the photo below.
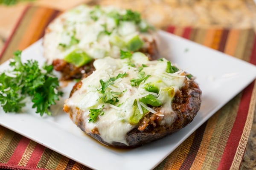
{"type": "Polygon", "coordinates": [[[34,103],[36,113],[51,115],[49,107],[55,105],[62,95],[58,91],[58,78],[52,75],[53,66],[44,65],[39,68],[37,61],[28,60],[22,63],[21,51],[15,51],[15,57],[10,62],[12,71],[0,74],[0,103],[7,112],[20,112],[25,106],[25,99],[29,96],[34,103]]]}

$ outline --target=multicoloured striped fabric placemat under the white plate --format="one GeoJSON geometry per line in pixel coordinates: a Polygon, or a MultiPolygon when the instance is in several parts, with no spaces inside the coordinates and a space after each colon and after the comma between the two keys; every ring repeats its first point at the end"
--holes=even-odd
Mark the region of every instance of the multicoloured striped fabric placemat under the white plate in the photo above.
{"type": "MultiPolygon", "coordinates": [[[[27,7],[1,53],[0,63],[12,57],[13,51],[23,50],[41,38],[47,24],[59,13],[49,8],[27,7]]],[[[252,29],[170,26],[167,31],[256,65],[256,35],[252,29]]],[[[239,169],[250,134],[255,105],[256,85],[252,82],[155,169],[239,169]]],[[[1,126],[0,168],[89,169],[1,126]]]]}

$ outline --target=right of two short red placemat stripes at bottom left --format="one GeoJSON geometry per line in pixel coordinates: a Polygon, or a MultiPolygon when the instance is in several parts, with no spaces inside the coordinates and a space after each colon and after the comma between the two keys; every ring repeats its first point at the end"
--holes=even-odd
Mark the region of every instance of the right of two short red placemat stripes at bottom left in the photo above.
{"type": "Polygon", "coordinates": [[[41,159],[41,156],[44,153],[46,147],[44,147],[41,144],[36,144],[35,149],[32,152],[32,155],[30,156],[30,159],[28,161],[28,163],[26,164],[26,166],[28,167],[36,167],[38,162],[41,159]]]}

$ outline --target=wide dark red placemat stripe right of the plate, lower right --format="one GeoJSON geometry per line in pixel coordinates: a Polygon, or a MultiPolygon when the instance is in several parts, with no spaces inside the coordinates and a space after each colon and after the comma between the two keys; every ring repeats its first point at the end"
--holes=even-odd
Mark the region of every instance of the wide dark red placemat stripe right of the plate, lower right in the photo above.
{"type": "Polygon", "coordinates": [[[247,86],[247,88],[245,88],[243,91],[236,120],[230,132],[230,136],[227,140],[227,144],[221,157],[221,162],[219,164],[218,170],[228,170],[232,164],[232,161],[236,154],[236,149],[243,133],[244,124],[247,119],[253,86],[254,82],[247,86]]]}

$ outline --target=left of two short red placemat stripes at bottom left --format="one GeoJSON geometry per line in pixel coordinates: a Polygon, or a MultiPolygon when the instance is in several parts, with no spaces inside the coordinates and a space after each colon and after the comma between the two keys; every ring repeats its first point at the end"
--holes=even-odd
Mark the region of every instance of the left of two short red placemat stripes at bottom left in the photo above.
{"type": "Polygon", "coordinates": [[[11,158],[9,159],[9,161],[7,162],[7,164],[12,164],[12,165],[17,165],[20,161],[20,159],[23,156],[23,153],[26,150],[26,147],[29,144],[29,139],[27,139],[26,137],[22,137],[20,139],[20,142],[17,144],[17,147],[15,148],[11,158]]]}

